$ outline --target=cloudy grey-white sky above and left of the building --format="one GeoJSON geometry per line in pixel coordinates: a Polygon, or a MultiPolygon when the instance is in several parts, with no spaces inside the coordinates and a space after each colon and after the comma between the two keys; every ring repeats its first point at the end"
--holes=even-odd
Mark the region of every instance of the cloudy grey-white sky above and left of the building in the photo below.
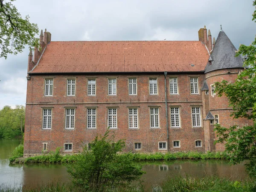
{"type": "MultiPolygon", "coordinates": [[[[52,41],[198,41],[204,25],[217,38],[220,24],[236,48],[255,38],[252,0],[17,0],[52,41]]],[[[29,50],[0,58],[0,108],[25,105],[29,50]]]]}

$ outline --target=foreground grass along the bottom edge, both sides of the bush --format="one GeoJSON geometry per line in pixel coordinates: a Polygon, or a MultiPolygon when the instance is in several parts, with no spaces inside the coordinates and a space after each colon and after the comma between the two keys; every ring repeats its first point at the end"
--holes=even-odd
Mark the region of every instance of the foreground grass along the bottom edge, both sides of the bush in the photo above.
{"type": "MultiPolygon", "coordinates": [[[[0,192],[20,192],[20,188],[0,186],[0,192]]],[[[23,189],[23,192],[81,192],[85,191],[72,183],[50,183],[37,186],[34,189],[23,189]]],[[[162,183],[153,186],[143,186],[141,183],[133,184],[129,188],[109,188],[105,192],[255,192],[256,180],[247,178],[243,181],[232,181],[217,176],[166,178],[162,183]]]]}

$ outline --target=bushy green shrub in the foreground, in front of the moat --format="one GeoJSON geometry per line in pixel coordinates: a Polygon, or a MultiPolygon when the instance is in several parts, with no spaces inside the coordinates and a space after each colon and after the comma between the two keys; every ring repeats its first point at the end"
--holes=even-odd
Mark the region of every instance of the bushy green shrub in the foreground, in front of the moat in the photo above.
{"type": "Polygon", "coordinates": [[[133,163],[131,155],[118,154],[125,142],[119,140],[114,143],[114,137],[108,137],[109,131],[104,136],[97,136],[90,149],[85,145],[76,162],[66,165],[73,182],[83,190],[98,192],[128,186],[144,173],[141,166],[133,163]]]}

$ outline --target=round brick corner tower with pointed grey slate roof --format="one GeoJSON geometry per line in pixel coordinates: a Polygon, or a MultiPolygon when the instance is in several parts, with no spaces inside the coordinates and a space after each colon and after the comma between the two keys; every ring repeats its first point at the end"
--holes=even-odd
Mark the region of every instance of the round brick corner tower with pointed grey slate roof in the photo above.
{"type": "Polygon", "coordinates": [[[242,126],[251,123],[243,118],[233,119],[233,116],[230,116],[233,110],[229,106],[227,97],[219,97],[215,93],[215,82],[222,80],[234,82],[239,72],[244,70],[244,58],[241,55],[236,57],[236,51],[236,47],[221,28],[205,68],[205,81],[202,87],[206,104],[205,114],[207,114],[204,119],[206,151],[207,148],[209,151],[224,151],[224,144],[213,144],[216,139],[215,123],[227,128],[231,125],[242,126]]]}

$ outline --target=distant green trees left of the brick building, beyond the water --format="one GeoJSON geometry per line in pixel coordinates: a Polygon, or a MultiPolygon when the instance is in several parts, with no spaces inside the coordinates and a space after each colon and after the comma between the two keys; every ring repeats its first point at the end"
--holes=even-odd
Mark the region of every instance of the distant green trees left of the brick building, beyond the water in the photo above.
{"type": "Polygon", "coordinates": [[[15,109],[6,105],[0,110],[0,138],[13,138],[22,135],[25,125],[25,107],[16,105],[15,109]]]}

